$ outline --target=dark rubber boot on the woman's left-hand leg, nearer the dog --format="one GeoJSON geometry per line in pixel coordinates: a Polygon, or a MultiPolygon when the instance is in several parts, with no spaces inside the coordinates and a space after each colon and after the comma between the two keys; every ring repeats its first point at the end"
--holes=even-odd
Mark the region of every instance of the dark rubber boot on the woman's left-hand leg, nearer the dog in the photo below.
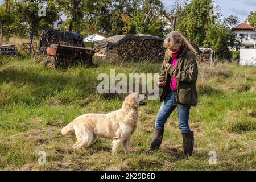
{"type": "Polygon", "coordinates": [[[163,134],[164,134],[164,129],[159,130],[159,129],[155,129],[154,127],[150,149],[147,151],[148,153],[152,153],[159,149],[163,140],[163,134]]]}

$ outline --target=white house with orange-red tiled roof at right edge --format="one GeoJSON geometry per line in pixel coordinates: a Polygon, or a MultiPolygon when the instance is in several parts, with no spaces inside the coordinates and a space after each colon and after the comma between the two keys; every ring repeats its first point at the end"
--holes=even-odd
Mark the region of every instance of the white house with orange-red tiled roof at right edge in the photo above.
{"type": "Polygon", "coordinates": [[[234,36],[241,42],[241,49],[255,49],[256,27],[250,26],[249,22],[238,24],[232,28],[234,36]]]}

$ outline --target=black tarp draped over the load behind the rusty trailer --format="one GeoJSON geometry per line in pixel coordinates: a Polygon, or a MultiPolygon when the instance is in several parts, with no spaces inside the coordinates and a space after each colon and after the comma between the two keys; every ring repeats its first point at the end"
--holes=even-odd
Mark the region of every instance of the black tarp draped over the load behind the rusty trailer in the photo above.
{"type": "Polygon", "coordinates": [[[44,30],[39,43],[39,52],[44,53],[51,44],[85,47],[84,39],[80,34],[59,30],[44,30]]]}

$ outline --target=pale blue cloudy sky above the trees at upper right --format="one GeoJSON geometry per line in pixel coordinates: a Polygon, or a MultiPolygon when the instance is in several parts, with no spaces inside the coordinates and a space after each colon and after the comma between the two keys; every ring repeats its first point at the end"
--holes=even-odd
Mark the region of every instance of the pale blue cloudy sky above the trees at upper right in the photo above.
{"type": "MultiPolygon", "coordinates": [[[[171,9],[174,0],[163,0],[166,9],[171,9]]],[[[215,4],[221,7],[221,13],[226,17],[236,15],[240,23],[245,22],[251,11],[256,11],[256,0],[215,0],[215,4]]]]}

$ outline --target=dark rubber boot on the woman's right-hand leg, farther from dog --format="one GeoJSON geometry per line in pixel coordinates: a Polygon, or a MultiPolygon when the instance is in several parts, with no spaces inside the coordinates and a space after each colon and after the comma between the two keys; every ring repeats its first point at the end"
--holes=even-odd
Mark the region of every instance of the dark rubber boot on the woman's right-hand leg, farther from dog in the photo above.
{"type": "Polygon", "coordinates": [[[190,133],[183,133],[182,137],[184,157],[191,156],[194,147],[194,133],[193,131],[191,131],[190,133]]]}

